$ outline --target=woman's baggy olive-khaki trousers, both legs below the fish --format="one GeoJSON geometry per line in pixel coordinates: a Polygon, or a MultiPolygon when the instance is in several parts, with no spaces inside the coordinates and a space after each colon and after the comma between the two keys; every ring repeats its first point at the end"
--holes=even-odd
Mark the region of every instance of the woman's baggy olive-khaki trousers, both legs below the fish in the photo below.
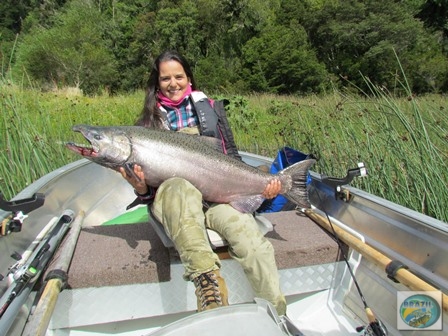
{"type": "MultiPolygon", "coordinates": [[[[160,185],[152,212],[173,241],[185,267],[186,280],[194,281],[221,267],[208,241],[208,227],[227,240],[229,253],[243,267],[255,296],[270,301],[279,315],[286,313],[274,249],[258,229],[252,214],[243,214],[228,204],[212,205],[204,214],[199,190],[176,177],[160,185]]],[[[225,287],[224,281],[220,283],[225,287]]],[[[225,288],[220,290],[227,296],[225,288]]]]}

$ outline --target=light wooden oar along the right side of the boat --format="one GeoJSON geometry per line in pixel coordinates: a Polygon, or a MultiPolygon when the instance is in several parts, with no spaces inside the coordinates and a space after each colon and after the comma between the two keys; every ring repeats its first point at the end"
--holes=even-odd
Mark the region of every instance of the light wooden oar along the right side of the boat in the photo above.
{"type": "MultiPolygon", "coordinates": [[[[335,233],[341,241],[361,253],[364,258],[373,264],[380,266],[385,270],[386,267],[392,262],[391,259],[373,247],[362,242],[352,234],[337,227],[336,225],[331,225],[327,218],[324,218],[313,210],[305,210],[305,214],[328,232],[335,233]]],[[[420,279],[418,276],[405,268],[398,269],[394,275],[394,279],[414,291],[439,291],[439,289],[431,286],[426,281],[420,279]]],[[[445,312],[448,312],[448,296],[444,293],[442,293],[442,308],[445,312]]]]}

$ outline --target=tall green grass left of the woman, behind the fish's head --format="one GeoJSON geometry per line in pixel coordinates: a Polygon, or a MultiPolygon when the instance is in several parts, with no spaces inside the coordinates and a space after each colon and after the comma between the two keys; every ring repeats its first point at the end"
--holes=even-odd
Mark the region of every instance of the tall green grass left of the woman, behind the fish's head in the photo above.
{"type": "Polygon", "coordinates": [[[75,124],[133,124],[142,95],[84,97],[76,90],[43,93],[0,80],[0,192],[11,198],[43,175],[79,157],[65,142],[75,124]]]}

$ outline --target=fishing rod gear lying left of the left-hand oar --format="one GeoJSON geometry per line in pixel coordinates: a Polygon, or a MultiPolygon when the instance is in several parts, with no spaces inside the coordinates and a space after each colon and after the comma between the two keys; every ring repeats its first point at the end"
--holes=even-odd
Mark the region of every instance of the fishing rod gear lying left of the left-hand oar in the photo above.
{"type": "Polygon", "coordinates": [[[11,285],[0,299],[0,335],[6,335],[8,332],[73,219],[74,212],[72,210],[64,211],[28,260],[19,269],[15,270],[11,285]]]}

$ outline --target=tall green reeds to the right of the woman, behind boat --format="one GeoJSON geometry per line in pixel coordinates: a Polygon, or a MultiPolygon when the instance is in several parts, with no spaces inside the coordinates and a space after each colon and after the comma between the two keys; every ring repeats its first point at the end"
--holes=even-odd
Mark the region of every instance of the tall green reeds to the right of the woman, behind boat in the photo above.
{"type": "Polygon", "coordinates": [[[446,98],[394,97],[369,84],[365,96],[251,97],[243,113],[252,128],[241,131],[241,115],[230,113],[235,138],[241,149],[271,157],[282,146],[312,153],[314,170],[330,176],[364,162],[368,177],[354,186],[448,222],[446,98]]]}

